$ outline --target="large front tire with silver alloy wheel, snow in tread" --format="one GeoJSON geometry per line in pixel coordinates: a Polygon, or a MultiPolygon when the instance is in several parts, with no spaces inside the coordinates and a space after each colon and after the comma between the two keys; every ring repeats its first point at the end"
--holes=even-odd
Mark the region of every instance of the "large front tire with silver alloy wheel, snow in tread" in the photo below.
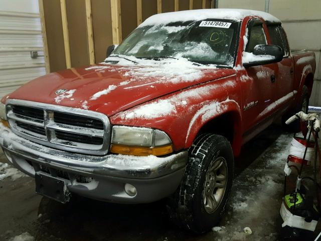
{"type": "Polygon", "coordinates": [[[202,134],[189,150],[180,187],[170,200],[170,217],[196,233],[209,231],[220,220],[234,175],[234,156],[222,136],[202,134]]]}

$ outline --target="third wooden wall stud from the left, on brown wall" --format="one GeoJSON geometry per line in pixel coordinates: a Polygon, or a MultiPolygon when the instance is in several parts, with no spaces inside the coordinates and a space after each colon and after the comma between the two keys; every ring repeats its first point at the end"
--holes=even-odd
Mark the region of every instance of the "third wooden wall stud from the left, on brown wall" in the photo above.
{"type": "Polygon", "coordinates": [[[87,39],[88,39],[89,64],[94,64],[95,47],[94,47],[94,36],[93,36],[93,30],[92,30],[91,0],[85,0],[85,7],[86,7],[86,27],[87,27],[87,39]]]}

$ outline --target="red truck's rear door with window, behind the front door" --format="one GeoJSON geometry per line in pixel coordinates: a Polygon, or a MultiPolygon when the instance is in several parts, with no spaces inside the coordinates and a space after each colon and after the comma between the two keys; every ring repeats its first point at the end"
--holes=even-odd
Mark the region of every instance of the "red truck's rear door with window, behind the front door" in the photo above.
{"type": "MultiPolygon", "coordinates": [[[[278,102],[280,102],[280,104],[282,102],[281,100],[284,100],[284,103],[286,103],[293,99],[291,98],[294,84],[293,59],[289,54],[287,39],[284,34],[283,28],[280,26],[280,24],[268,25],[267,29],[270,36],[269,44],[278,45],[282,48],[283,51],[283,59],[282,61],[277,63],[277,70],[275,75],[275,98],[276,100],[279,100],[278,102]]],[[[283,111],[287,106],[288,105],[285,104],[283,111]]]]}

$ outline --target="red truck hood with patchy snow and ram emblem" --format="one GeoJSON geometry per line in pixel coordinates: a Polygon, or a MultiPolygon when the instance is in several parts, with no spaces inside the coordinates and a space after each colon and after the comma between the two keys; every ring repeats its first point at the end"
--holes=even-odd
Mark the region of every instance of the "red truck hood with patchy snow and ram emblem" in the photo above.
{"type": "Polygon", "coordinates": [[[233,69],[182,66],[179,62],[71,68],[34,79],[11,93],[9,98],[84,108],[111,116],[159,96],[235,72],[233,69]]]}

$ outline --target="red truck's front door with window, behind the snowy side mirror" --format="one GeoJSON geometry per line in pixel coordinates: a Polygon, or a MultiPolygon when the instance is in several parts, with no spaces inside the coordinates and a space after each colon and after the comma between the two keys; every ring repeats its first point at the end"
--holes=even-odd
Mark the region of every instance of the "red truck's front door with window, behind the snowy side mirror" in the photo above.
{"type": "MultiPolygon", "coordinates": [[[[246,32],[245,52],[252,53],[256,45],[267,44],[261,20],[250,20],[246,32]]],[[[271,115],[270,105],[275,101],[277,64],[251,66],[245,70],[246,74],[239,77],[243,90],[244,142],[273,122],[273,118],[268,117],[271,115]]]]}

